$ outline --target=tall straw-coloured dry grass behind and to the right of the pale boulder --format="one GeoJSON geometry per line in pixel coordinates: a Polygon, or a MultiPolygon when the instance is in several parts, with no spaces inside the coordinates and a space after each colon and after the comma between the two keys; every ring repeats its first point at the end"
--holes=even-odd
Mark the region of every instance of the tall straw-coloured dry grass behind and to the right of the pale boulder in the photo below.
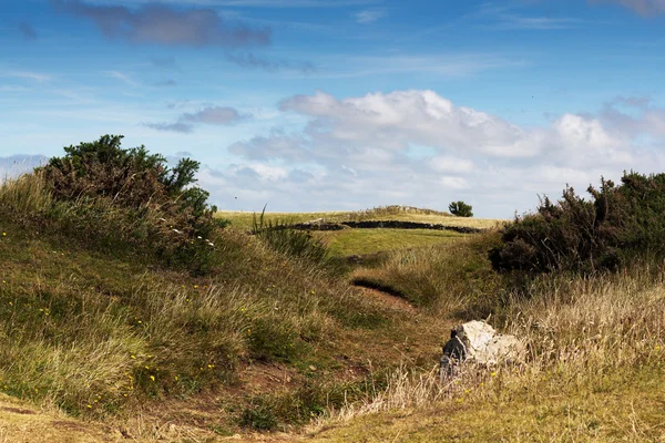
{"type": "Polygon", "coordinates": [[[550,276],[532,287],[529,298],[515,296],[504,308],[497,326],[524,341],[529,353],[523,364],[467,365],[447,380],[439,379],[437,368],[420,372],[403,367],[387,378],[385,391],[334,411],[318,425],[462,401],[538,405],[555,395],[574,402],[594,392],[620,392],[644,371],[664,369],[665,268],[579,279],[550,276]]]}

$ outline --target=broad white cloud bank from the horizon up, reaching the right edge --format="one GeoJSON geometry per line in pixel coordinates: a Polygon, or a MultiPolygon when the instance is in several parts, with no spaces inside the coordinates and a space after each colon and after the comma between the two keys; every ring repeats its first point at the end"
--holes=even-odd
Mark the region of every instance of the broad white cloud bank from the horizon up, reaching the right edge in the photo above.
{"type": "Polygon", "coordinates": [[[433,91],[297,95],[280,110],[306,119],[305,126],[232,145],[239,161],[215,172],[225,184],[211,190],[228,208],[260,210],[269,202],[275,210],[446,209],[462,199],[478,216],[508,218],[533,208],[538,195],[559,197],[566,184],[584,192],[624,169],[663,171],[665,112],[627,105],[642,106],[630,122],[608,105],[597,115],[567,113],[525,127],[433,91]]]}

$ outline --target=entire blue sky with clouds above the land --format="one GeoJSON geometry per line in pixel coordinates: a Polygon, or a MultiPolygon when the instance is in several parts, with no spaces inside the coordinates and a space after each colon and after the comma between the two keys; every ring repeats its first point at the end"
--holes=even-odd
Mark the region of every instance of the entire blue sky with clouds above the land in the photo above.
{"type": "Polygon", "coordinates": [[[0,176],[104,134],[221,209],[510,218],[665,172],[665,0],[6,0],[0,176]]]}

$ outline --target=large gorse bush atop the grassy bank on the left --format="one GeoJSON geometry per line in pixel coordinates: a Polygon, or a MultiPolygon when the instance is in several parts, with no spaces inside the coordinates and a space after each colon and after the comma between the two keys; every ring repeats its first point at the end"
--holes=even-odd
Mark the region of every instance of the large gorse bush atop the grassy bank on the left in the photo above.
{"type": "Polygon", "coordinates": [[[215,228],[208,193],[193,186],[198,162],[165,158],[145,146],[124,150],[104,135],[0,190],[0,206],[23,226],[114,254],[132,254],[196,274],[209,270],[215,228]],[[211,240],[213,238],[213,240],[211,240]]]}

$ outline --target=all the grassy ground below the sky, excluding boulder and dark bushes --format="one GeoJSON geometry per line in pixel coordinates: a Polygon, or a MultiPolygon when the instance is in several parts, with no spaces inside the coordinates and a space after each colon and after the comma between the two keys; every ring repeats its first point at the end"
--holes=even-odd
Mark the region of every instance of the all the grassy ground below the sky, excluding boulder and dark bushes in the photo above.
{"type": "Polygon", "coordinates": [[[222,228],[162,173],[112,194],[43,171],[1,185],[0,441],[665,436],[662,260],[497,272],[495,229],[316,234],[330,253],[305,231],[222,228]],[[450,328],[472,319],[520,337],[526,361],[439,380],[450,328]]]}

